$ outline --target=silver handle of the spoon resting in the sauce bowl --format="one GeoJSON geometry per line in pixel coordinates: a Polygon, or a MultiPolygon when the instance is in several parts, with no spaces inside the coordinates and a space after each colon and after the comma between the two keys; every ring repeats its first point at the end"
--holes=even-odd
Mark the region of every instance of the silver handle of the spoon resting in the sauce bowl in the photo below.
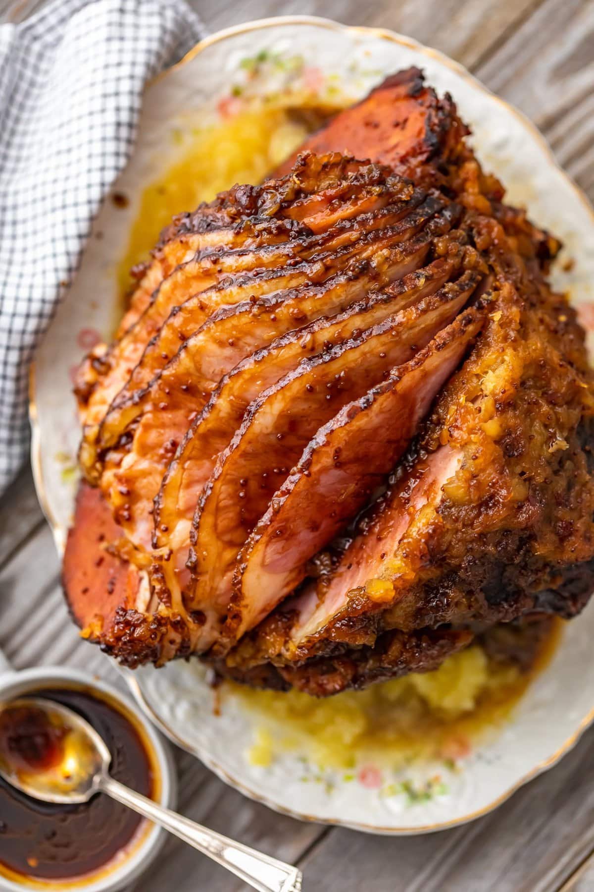
{"type": "Polygon", "coordinates": [[[160,824],[176,837],[208,855],[216,863],[222,864],[241,880],[258,889],[259,892],[300,892],[302,875],[297,867],[285,864],[256,852],[256,849],[243,846],[239,842],[208,830],[199,824],[183,818],[180,814],[157,805],[151,799],[128,789],[124,784],[104,775],[99,783],[103,793],[142,814],[149,821],[160,824]]]}

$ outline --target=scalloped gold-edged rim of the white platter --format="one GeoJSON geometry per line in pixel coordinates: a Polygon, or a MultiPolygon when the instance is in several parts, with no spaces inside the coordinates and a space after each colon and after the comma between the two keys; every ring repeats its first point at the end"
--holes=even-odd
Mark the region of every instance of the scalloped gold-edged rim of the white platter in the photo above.
{"type": "MultiPolygon", "coordinates": [[[[149,87],[161,80],[162,78],[166,78],[172,71],[178,70],[187,62],[191,62],[198,54],[202,53],[207,47],[220,43],[221,41],[226,40],[229,37],[236,37],[242,34],[248,34],[251,31],[274,28],[283,25],[313,25],[318,28],[325,28],[329,30],[333,30],[339,33],[346,34],[360,34],[366,37],[377,37],[378,39],[387,40],[391,43],[395,43],[397,45],[405,46],[415,52],[418,52],[421,55],[426,56],[427,58],[434,59],[436,62],[439,62],[441,65],[446,68],[454,71],[460,78],[466,80],[469,84],[472,85],[476,90],[484,93],[489,99],[490,102],[495,102],[500,104],[509,114],[513,115],[528,131],[530,136],[533,138],[534,142],[540,145],[542,152],[545,154],[549,164],[557,169],[558,172],[561,173],[563,178],[565,178],[566,183],[571,186],[574,194],[579,199],[579,201],[583,204],[585,210],[589,213],[592,219],[592,225],[594,226],[594,209],[592,208],[588,198],[585,194],[583,194],[582,190],[574,180],[563,170],[557,162],[554,153],[552,152],[549,143],[542,136],[541,132],[538,128],[535,127],[533,122],[526,118],[526,116],[518,111],[513,105],[507,103],[505,100],[501,99],[499,96],[494,95],[491,90],[487,87],[484,87],[479,80],[477,80],[473,75],[471,75],[467,69],[464,68],[460,62],[454,62],[448,56],[439,52],[438,50],[432,49],[430,47],[419,44],[416,40],[413,40],[411,37],[405,37],[401,34],[397,34],[395,31],[390,31],[387,29],[381,28],[368,28],[364,26],[348,26],[340,24],[337,21],[332,21],[330,19],[324,19],[317,16],[307,16],[307,15],[296,15],[296,16],[278,16],[275,18],[268,19],[260,19],[256,21],[245,22],[244,24],[233,26],[232,28],[227,28],[221,31],[217,31],[216,34],[210,35],[209,37],[205,37],[203,40],[199,41],[197,45],[195,45],[187,54],[183,56],[183,59],[180,62],[177,62],[171,68],[160,72],[156,78],[151,80],[151,83],[148,85],[149,87]]],[[[65,544],[65,536],[66,531],[63,529],[60,522],[53,514],[53,509],[51,507],[50,501],[47,498],[46,490],[45,490],[45,481],[41,460],[41,433],[39,429],[38,419],[37,419],[37,404],[35,397],[35,364],[31,364],[30,376],[29,376],[29,420],[32,430],[32,439],[31,439],[31,466],[33,470],[34,482],[37,490],[37,497],[41,504],[41,508],[45,514],[48,524],[50,525],[53,538],[56,543],[56,547],[59,552],[63,550],[65,544]]],[[[224,768],[216,762],[216,760],[210,758],[210,756],[206,756],[204,753],[200,752],[196,747],[194,747],[191,741],[185,740],[180,737],[175,731],[170,728],[167,723],[165,723],[155,712],[149,701],[145,698],[142,688],[139,682],[132,676],[132,673],[129,671],[123,671],[123,675],[126,679],[126,684],[131,690],[134,698],[136,699],[139,706],[141,706],[142,710],[145,714],[149,716],[152,723],[157,725],[160,731],[172,740],[177,746],[182,747],[184,750],[189,752],[192,756],[196,756],[199,760],[207,766],[212,772],[214,772],[221,780],[224,780],[225,783],[230,786],[238,789],[241,793],[247,796],[250,799],[255,800],[256,802],[260,802],[263,805],[266,805],[269,808],[272,808],[273,811],[279,812],[281,814],[287,814],[290,817],[297,818],[302,821],[307,822],[316,822],[323,823],[328,825],[336,825],[349,827],[353,830],[361,830],[362,832],[367,833],[376,833],[376,834],[385,834],[385,835],[393,835],[393,836],[410,836],[419,833],[427,833],[435,830],[446,830],[460,824],[468,823],[470,821],[476,820],[476,818],[482,817],[485,814],[488,814],[493,809],[497,808],[506,799],[511,797],[517,789],[520,789],[530,780],[533,780],[542,772],[547,771],[554,764],[556,764],[566,753],[574,747],[577,741],[582,736],[582,733],[589,727],[589,725],[594,722],[594,706],[590,710],[588,714],[586,714],[581,722],[579,723],[576,730],[563,742],[563,744],[557,748],[557,750],[548,758],[543,759],[538,764],[535,764],[533,768],[529,772],[525,772],[525,774],[519,778],[515,783],[513,783],[508,789],[505,789],[500,796],[494,798],[492,802],[488,805],[484,805],[484,807],[477,809],[475,812],[471,812],[469,814],[462,815],[460,818],[455,818],[452,821],[442,821],[435,822],[433,824],[422,825],[418,827],[411,828],[409,827],[395,827],[395,826],[378,826],[376,824],[364,824],[362,822],[346,822],[340,819],[332,819],[326,818],[321,819],[315,817],[314,815],[305,814],[303,812],[293,811],[292,809],[280,805],[276,802],[269,800],[267,797],[258,793],[255,789],[251,789],[246,786],[240,780],[237,779],[232,774],[229,774],[224,770],[224,768]]]]}

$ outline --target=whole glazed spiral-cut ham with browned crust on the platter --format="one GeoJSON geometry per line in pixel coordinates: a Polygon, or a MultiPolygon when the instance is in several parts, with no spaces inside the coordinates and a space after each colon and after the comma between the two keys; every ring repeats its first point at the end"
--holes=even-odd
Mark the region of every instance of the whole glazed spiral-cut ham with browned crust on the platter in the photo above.
{"type": "Polygon", "coordinates": [[[466,136],[406,70],[163,232],[77,374],[87,639],[324,697],[582,609],[584,333],[466,136]]]}

